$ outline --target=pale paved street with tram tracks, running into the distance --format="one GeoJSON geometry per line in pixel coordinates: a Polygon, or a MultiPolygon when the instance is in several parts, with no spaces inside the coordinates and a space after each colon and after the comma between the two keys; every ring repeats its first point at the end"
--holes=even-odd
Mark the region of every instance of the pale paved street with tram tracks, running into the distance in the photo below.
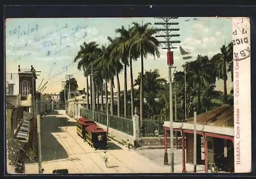
{"type": "MultiPolygon", "coordinates": [[[[109,140],[110,168],[103,161],[103,151],[95,150],[76,133],[76,120],[67,116],[64,110],[52,112],[41,123],[41,154],[44,174],[55,169],[68,169],[69,173],[169,173],[170,166],[163,165],[163,149],[128,150],[109,140]]],[[[181,172],[181,154],[175,158],[175,172],[181,172]]],[[[169,156],[168,156],[169,157],[169,156]]],[[[193,165],[186,164],[188,171],[193,165]]],[[[204,166],[198,166],[203,172],[204,166]]],[[[26,164],[27,174],[38,173],[38,163],[26,164]]]]}

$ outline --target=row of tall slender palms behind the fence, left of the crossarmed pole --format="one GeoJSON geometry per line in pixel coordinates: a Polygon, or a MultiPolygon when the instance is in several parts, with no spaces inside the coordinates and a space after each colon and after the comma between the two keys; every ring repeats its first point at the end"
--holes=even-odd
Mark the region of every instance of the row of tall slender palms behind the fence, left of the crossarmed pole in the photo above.
{"type": "MultiPolygon", "coordinates": [[[[124,72],[124,117],[127,117],[127,67],[130,66],[131,75],[131,114],[134,115],[134,81],[132,63],[141,58],[141,74],[144,74],[143,60],[147,55],[160,57],[159,41],[154,37],[157,33],[155,28],[150,27],[151,23],[139,24],[133,22],[133,26],[125,29],[116,29],[117,37],[108,37],[109,45],[99,45],[93,42],[84,42],[80,45],[79,52],[74,58],[78,62],[78,70],[83,70],[87,81],[87,102],[89,104],[89,80],[90,86],[95,85],[97,95],[101,94],[101,104],[103,104],[103,84],[105,88],[106,100],[108,100],[108,83],[110,82],[111,104],[110,112],[113,115],[113,87],[114,78],[117,80],[117,115],[120,116],[120,81],[119,73],[124,72]],[[93,75],[93,82],[92,82],[93,75]],[[94,84],[92,84],[94,83],[94,84]]],[[[143,78],[140,78],[140,86],[143,86],[143,78]]],[[[92,94],[92,88],[90,88],[92,94]]],[[[96,95],[94,94],[94,97],[96,95]]],[[[96,97],[95,97],[96,98],[96,97]]],[[[91,96],[92,100],[92,96],[91,96]]],[[[99,99],[98,99],[99,100],[99,99]]],[[[98,102],[98,101],[97,101],[98,102]]],[[[92,104],[92,103],[91,103],[92,104]]],[[[107,103],[106,103],[107,105],[107,103]]],[[[91,106],[92,108],[92,106],[91,106]]],[[[103,106],[101,105],[103,111],[103,106]]],[[[143,88],[140,88],[140,122],[143,117],[143,88]]]]}

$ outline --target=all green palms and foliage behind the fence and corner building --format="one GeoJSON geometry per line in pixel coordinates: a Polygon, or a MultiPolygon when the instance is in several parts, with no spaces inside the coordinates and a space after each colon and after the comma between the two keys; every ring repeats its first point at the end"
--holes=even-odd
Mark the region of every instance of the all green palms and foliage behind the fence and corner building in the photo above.
{"type": "MultiPolygon", "coordinates": [[[[74,62],[78,62],[78,70],[83,69],[84,75],[91,74],[91,66],[94,69],[94,79],[96,84],[103,88],[102,93],[113,94],[113,79],[117,79],[118,105],[111,104],[113,114],[119,116],[132,117],[135,107],[142,110],[140,116],[141,132],[143,135],[154,135],[154,131],[159,129],[161,135],[163,121],[169,120],[169,84],[161,78],[158,69],[144,71],[144,58],[152,55],[154,58],[160,57],[159,41],[154,37],[157,30],[150,27],[151,23],[139,24],[133,22],[132,27],[125,29],[124,26],[116,29],[117,37],[108,37],[109,44],[99,45],[95,42],[84,42],[80,45],[74,62]],[[133,80],[132,61],[140,57],[141,72],[138,78],[133,80]],[[127,74],[126,67],[130,66],[131,90],[126,89],[127,74]],[[119,74],[124,71],[124,90],[119,88],[119,74]],[[111,82],[113,86],[109,86],[111,82]],[[133,86],[139,87],[134,89],[133,86]],[[142,87],[141,87],[142,86],[142,87]],[[108,89],[110,88],[110,90],[108,89]],[[140,88],[142,90],[140,91],[140,88]],[[146,103],[142,103],[143,98],[146,103]],[[117,110],[119,109],[120,110],[117,110]],[[125,109],[127,108],[127,110],[125,109]],[[142,123],[142,121],[145,121],[142,123]]],[[[194,108],[202,113],[218,106],[233,104],[233,90],[227,94],[216,91],[216,79],[224,80],[226,86],[227,72],[233,75],[232,44],[222,45],[221,53],[214,55],[210,60],[207,56],[198,55],[194,61],[186,63],[186,113],[185,116],[185,74],[184,71],[177,71],[173,78],[173,107],[175,109],[175,96],[177,102],[177,120],[184,120],[192,117],[194,108]],[[176,95],[175,95],[176,94],[176,95]]],[[[183,65],[183,67],[185,67],[183,65]]],[[[231,80],[232,79],[231,75],[231,80]]],[[[74,83],[74,87],[76,88],[74,83]]],[[[115,88],[115,87],[114,87],[115,88]]],[[[91,89],[91,88],[90,88],[91,89]]],[[[96,88],[95,88],[96,89],[96,88]]],[[[105,108],[105,107],[104,107],[105,108]]],[[[174,110],[173,110],[174,111],[174,110]]],[[[140,113],[138,113],[140,115],[140,113]]],[[[174,118],[175,119],[175,118],[174,118]]]]}

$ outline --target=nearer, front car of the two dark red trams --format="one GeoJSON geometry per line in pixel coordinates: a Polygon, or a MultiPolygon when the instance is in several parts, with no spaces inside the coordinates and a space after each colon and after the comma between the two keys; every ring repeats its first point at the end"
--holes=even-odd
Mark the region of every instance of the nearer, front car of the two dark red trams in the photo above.
{"type": "Polygon", "coordinates": [[[86,141],[96,149],[106,148],[106,131],[96,124],[90,124],[85,131],[86,141]]]}

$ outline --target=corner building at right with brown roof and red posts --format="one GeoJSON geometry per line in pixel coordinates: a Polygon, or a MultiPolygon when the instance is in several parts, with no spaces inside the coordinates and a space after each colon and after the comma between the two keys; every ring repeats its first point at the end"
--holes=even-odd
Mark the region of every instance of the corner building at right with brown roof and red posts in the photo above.
{"type": "MultiPolygon", "coordinates": [[[[170,122],[165,121],[165,159],[167,161],[167,130],[170,122]]],[[[197,115],[197,147],[196,163],[205,165],[208,172],[209,165],[215,165],[222,171],[234,172],[234,127],[233,106],[223,105],[216,109],[197,115]],[[203,142],[201,142],[203,138],[203,142]],[[203,150],[202,151],[202,147],[203,150]],[[204,159],[201,154],[204,154],[204,159]]],[[[194,118],[188,118],[186,122],[173,122],[173,130],[180,132],[182,136],[182,164],[183,172],[186,172],[185,163],[194,163],[194,118]],[[186,151],[185,151],[186,147],[186,151]]]]}

